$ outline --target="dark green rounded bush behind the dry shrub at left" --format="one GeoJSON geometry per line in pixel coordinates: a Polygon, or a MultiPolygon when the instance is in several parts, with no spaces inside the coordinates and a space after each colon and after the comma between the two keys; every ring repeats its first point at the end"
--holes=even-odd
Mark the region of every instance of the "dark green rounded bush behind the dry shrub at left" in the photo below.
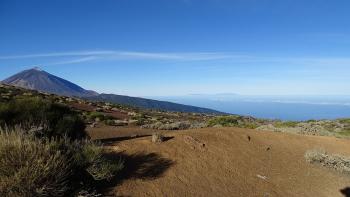
{"type": "Polygon", "coordinates": [[[40,133],[35,133],[41,137],[82,139],[87,136],[79,114],[64,105],[37,97],[0,103],[0,127],[15,125],[21,125],[26,130],[42,128],[40,133]]]}

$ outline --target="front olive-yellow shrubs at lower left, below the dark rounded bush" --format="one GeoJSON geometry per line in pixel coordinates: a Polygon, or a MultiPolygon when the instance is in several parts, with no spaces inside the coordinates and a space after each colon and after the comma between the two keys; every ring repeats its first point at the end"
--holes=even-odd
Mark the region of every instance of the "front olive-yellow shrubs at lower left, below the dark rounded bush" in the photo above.
{"type": "Polygon", "coordinates": [[[39,139],[19,130],[0,132],[1,196],[64,196],[80,183],[109,180],[123,168],[88,140],[39,139]]]}

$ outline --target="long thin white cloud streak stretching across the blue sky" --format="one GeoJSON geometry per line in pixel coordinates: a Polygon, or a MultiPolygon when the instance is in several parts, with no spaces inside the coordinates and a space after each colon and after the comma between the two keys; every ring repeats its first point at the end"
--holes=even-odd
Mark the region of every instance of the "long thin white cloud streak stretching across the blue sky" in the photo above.
{"type": "Polygon", "coordinates": [[[207,61],[207,60],[228,60],[235,63],[281,63],[294,65],[331,66],[350,64],[347,57],[275,57],[245,55],[232,52],[187,52],[187,53],[166,53],[166,52],[139,52],[139,51],[116,51],[116,50],[89,50],[89,51],[68,51],[55,53],[35,53],[23,55],[0,55],[0,60],[19,59],[54,59],[54,63],[46,65],[72,64],[95,60],[169,60],[169,61],[207,61]],[[62,58],[71,60],[61,60],[62,58]],[[60,61],[58,61],[60,60],[60,61]]]}

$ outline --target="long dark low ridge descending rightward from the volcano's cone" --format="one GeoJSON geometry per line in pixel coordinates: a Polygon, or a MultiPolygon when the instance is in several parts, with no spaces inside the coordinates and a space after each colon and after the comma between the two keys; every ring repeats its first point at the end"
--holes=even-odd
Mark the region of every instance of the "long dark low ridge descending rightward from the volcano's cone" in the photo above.
{"type": "Polygon", "coordinates": [[[132,106],[137,106],[141,108],[158,109],[158,110],[165,110],[165,111],[223,114],[219,111],[215,111],[207,108],[194,107],[190,105],[182,105],[182,104],[166,102],[166,101],[144,99],[139,97],[115,95],[115,94],[100,94],[98,96],[89,97],[88,99],[94,100],[94,101],[111,102],[111,103],[132,105],[132,106]]]}

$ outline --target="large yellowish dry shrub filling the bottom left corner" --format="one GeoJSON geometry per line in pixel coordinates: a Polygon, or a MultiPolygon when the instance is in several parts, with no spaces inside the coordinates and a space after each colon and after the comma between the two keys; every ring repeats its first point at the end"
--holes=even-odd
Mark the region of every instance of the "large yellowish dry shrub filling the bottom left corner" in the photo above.
{"type": "Polygon", "coordinates": [[[0,196],[65,194],[72,162],[52,143],[20,132],[0,133],[0,196]]]}

